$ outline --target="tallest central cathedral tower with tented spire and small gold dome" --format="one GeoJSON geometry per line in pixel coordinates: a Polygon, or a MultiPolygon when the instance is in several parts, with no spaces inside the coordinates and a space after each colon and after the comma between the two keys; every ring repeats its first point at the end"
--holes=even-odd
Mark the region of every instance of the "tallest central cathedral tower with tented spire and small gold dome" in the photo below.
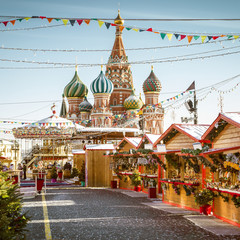
{"type": "Polygon", "coordinates": [[[113,92],[110,97],[110,107],[113,114],[124,113],[124,101],[131,95],[133,89],[132,71],[128,63],[122,40],[122,25],[124,20],[118,16],[114,20],[116,26],[115,42],[106,65],[106,77],[113,83],[113,92]]]}

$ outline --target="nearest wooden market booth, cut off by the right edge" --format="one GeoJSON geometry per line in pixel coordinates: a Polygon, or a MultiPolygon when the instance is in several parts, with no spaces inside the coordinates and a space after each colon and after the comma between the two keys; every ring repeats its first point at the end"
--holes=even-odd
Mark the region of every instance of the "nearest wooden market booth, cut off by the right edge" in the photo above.
{"type": "Polygon", "coordinates": [[[214,192],[213,215],[240,227],[240,113],[219,114],[203,135],[212,149],[202,155],[215,171],[206,178],[214,192]]]}

